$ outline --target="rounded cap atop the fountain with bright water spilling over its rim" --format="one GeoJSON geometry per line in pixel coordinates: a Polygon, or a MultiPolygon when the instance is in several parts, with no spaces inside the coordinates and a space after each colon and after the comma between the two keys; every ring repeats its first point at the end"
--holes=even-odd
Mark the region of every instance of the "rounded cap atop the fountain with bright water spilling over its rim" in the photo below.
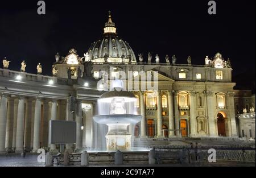
{"type": "Polygon", "coordinates": [[[99,101],[110,103],[114,98],[123,98],[125,102],[135,102],[137,100],[137,98],[131,92],[114,90],[102,94],[99,98],[99,101]]]}

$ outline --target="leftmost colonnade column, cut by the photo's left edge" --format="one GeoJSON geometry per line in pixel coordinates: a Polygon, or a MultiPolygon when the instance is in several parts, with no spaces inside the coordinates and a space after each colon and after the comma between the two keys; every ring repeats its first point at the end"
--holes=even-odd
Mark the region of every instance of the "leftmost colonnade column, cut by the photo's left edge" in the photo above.
{"type": "Polygon", "coordinates": [[[5,95],[2,95],[1,101],[0,101],[0,153],[5,152],[6,122],[7,122],[7,97],[5,95]]]}

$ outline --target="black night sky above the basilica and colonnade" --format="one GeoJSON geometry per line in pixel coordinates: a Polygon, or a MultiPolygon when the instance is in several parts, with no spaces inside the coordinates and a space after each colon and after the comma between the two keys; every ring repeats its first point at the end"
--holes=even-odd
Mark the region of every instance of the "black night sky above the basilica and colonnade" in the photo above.
{"type": "Polygon", "coordinates": [[[46,0],[46,15],[37,14],[37,2],[0,2],[0,59],[11,60],[10,69],[19,71],[26,60],[27,72],[36,73],[40,62],[51,75],[56,52],[66,56],[75,48],[83,56],[101,38],[110,10],[137,58],[150,51],[162,61],[176,55],[185,64],[191,55],[192,64],[204,64],[206,55],[220,52],[233,76],[255,75],[255,1],[216,1],[217,15],[208,14],[208,1],[46,0]]]}

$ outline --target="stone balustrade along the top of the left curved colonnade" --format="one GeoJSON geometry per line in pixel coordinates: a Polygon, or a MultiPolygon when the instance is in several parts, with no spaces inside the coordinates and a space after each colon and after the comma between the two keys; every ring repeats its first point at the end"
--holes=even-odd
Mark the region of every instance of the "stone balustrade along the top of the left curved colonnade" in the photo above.
{"type": "Polygon", "coordinates": [[[60,85],[68,85],[68,80],[65,78],[56,78],[56,77],[50,77],[50,76],[42,76],[39,74],[10,71],[9,69],[0,69],[0,76],[10,77],[10,78],[17,78],[17,76],[20,76],[22,80],[27,80],[27,81],[36,81],[36,82],[44,82],[44,83],[53,81],[53,82],[57,82],[57,84],[60,84],[60,85]]]}

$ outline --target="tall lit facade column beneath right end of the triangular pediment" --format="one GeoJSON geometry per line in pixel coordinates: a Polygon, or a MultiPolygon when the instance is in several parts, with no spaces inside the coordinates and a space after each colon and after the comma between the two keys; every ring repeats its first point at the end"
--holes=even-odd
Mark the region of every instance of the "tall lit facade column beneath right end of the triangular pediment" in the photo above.
{"type": "Polygon", "coordinates": [[[169,119],[169,137],[174,136],[174,105],[172,91],[168,91],[168,119],[169,119]]]}

